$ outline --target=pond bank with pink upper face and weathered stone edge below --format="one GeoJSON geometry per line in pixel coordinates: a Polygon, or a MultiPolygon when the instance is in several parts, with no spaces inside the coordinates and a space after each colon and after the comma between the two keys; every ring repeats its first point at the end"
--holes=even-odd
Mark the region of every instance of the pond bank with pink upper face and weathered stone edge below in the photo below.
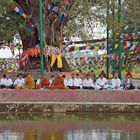
{"type": "Polygon", "coordinates": [[[0,113],[140,113],[140,91],[0,90],[0,113]]]}

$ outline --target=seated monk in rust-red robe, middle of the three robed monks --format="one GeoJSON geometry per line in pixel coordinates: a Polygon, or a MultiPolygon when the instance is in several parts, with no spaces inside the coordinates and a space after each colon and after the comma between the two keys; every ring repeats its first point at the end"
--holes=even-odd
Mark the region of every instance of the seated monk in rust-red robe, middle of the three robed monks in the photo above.
{"type": "Polygon", "coordinates": [[[48,88],[49,86],[50,86],[50,82],[45,76],[42,76],[36,82],[36,89],[40,89],[40,88],[45,89],[45,88],[48,88]]]}

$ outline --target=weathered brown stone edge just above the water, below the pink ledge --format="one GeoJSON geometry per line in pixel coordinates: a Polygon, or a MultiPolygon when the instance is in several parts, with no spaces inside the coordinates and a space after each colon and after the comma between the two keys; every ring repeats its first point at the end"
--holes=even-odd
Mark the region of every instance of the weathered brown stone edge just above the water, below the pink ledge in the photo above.
{"type": "Polygon", "coordinates": [[[140,113],[140,103],[109,102],[1,102],[0,113],[140,113]]]}

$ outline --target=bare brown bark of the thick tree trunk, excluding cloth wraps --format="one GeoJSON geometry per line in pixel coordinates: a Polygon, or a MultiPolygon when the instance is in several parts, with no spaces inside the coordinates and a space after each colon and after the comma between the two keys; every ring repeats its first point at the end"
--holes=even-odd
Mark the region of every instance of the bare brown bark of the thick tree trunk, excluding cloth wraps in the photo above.
{"type": "MultiPolygon", "coordinates": [[[[35,47],[39,43],[39,2],[38,0],[17,0],[17,3],[22,7],[26,14],[31,13],[32,18],[31,22],[34,26],[33,31],[30,36],[26,38],[22,37],[23,50],[25,51],[28,48],[35,47]]],[[[48,11],[49,0],[43,0],[43,31],[44,31],[44,41],[46,45],[53,47],[60,46],[60,43],[63,41],[62,32],[65,25],[66,18],[50,17],[48,11]]],[[[50,58],[44,58],[44,66],[46,71],[50,71],[50,58]],[[47,62],[46,62],[47,61],[47,62]]],[[[62,71],[70,71],[67,61],[63,58],[63,68],[62,71]]],[[[57,69],[55,66],[53,69],[57,69]]]]}

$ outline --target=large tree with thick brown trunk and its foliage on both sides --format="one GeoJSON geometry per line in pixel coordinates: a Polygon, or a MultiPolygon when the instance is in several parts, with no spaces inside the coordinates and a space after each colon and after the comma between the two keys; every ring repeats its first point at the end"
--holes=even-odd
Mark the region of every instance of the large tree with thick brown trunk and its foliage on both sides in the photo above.
{"type": "MultiPolygon", "coordinates": [[[[43,31],[47,45],[59,47],[63,37],[78,36],[82,39],[93,38],[95,23],[109,24],[112,32],[118,31],[118,15],[116,0],[42,0],[43,31]],[[109,1],[109,16],[107,2],[109,1]],[[51,9],[50,9],[51,7],[51,9]],[[54,8],[54,9],[53,9],[54,8]],[[114,13],[113,13],[114,11],[114,13]],[[91,32],[89,36],[88,32],[91,32]]],[[[0,38],[10,40],[18,32],[23,42],[23,49],[32,48],[39,43],[39,0],[1,0],[0,4],[0,38]],[[16,2],[28,18],[18,16],[13,8],[16,2]],[[30,14],[32,15],[30,17],[30,14]],[[32,32],[27,32],[27,24],[31,21],[32,32]]],[[[122,1],[122,28],[138,29],[139,0],[122,1]],[[133,20],[132,20],[133,18],[133,20]]],[[[128,30],[128,29],[127,29],[128,30]]]]}

